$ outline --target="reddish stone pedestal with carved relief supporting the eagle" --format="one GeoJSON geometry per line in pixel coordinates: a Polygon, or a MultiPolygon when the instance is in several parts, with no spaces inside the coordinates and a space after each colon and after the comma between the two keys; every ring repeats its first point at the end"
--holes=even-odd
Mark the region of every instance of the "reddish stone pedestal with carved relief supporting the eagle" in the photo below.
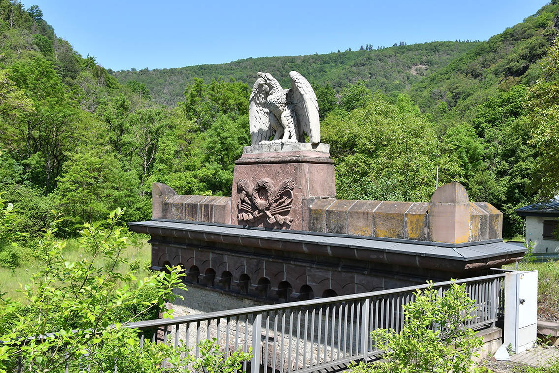
{"type": "Polygon", "coordinates": [[[247,146],[235,161],[231,223],[304,230],[304,199],[335,195],[328,144],[247,146]]]}

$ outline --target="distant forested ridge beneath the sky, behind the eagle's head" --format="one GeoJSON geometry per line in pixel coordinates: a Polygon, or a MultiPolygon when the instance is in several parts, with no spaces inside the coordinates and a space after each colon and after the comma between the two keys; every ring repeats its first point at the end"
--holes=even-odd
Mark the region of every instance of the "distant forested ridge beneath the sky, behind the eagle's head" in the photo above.
{"type": "Polygon", "coordinates": [[[271,73],[285,87],[291,84],[289,72],[297,71],[312,85],[328,84],[339,91],[349,83],[364,81],[373,92],[395,95],[446,66],[458,55],[472,50],[476,44],[470,41],[401,43],[379,49],[367,46],[353,52],[349,49],[329,54],[246,58],[230,63],[111,73],[122,84],[131,80],[143,83],[155,102],[170,106],[183,99],[184,87],[192,84],[195,78],[202,78],[206,83],[219,77],[225,81],[233,78],[252,85],[259,71],[271,73]]]}

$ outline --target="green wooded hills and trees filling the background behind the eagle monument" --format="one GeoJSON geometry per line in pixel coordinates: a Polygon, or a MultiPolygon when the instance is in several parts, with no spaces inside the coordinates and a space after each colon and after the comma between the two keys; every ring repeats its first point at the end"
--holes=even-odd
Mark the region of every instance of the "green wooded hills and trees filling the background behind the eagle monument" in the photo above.
{"type": "Polygon", "coordinates": [[[120,72],[119,83],[38,7],[0,0],[0,193],[28,233],[17,245],[0,235],[0,265],[32,255],[53,209],[57,234],[73,236],[117,207],[149,218],[154,181],[229,195],[262,70],[315,82],[338,198],[427,201],[439,166],[439,183],[463,183],[517,235],[514,209],[559,191],[557,20],[554,1],[488,41],[120,72]]]}

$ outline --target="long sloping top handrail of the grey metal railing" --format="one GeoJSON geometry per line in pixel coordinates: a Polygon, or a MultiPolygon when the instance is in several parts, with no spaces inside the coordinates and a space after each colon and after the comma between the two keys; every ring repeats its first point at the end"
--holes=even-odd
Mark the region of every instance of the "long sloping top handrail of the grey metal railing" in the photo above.
{"type": "MultiPolygon", "coordinates": [[[[489,276],[480,276],[480,277],[471,277],[466,279],[459,279],[456,281],[443,281],[443,282],[435,282],[432,284],[434,288],[437,287],[444,287],[449,286],[452,283],[471,283],[471,282],[478,282],[478,281],[485,281],[489,279],[501,278],[505,277],[505,273],[502,274],[491,274],[489,276]]],[[[156,320],[146,320],[146,321],[136,321],[134,323],[122,324],[122,327],[125,328],[138,328],[138,329],[147,329],[153,327],[164,327],[169,325],[176,325],[176,324],[183,324],[183,323],[192,323],[196,321],[207,321],[207,320],[214,320],[214,319],[222,319],[222,318],[231,318],[238,315],[247,315],[247,314],[258,314],[264,312],[273,312],[273,311],[282,311],[282,310],[290,310],[300,307],[311,307],[311,306],[319,306],[328,303],[337,303],[337,302],[344,302],[344,301],[356,301],[361,299],[367,299],[374,296],[382,296],[382,295],[391,295],[397,294],[402,292],[409,292],[409,291],[416,291],[428,288],[430,286],[429,283],[423,285],[415,285],[415,286],[406,286],[406,287],[399,287],[389,290],[378,290],[378,291],[371,291],[366,293],[357,293],[357,294],[350,294],[350,295],[338,295],[333,297],[326,297],[326,298],[319,298],[319,299],[311,299],[311,300],[304,300],[304,301],[295,301],[295,302],[285,302],[280,304],[271,304],[265,306],[255,306],[255,307],[246,307],[234,310],[226,310],[226,311],[216,311],[211,313],[204,313],[204,314],[197,314],[197,315],[188,315],[188,316],[181,316],[178,318],[173,319],[156,319],[156,320]]]]}

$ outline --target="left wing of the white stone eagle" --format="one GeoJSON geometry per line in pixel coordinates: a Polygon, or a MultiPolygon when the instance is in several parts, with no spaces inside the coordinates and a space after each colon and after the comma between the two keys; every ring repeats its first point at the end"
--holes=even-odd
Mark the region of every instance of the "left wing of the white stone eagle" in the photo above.
{"type": "Polygon", "coordinates": [[[269,111],[264,107],[267,95],[266,81],[259,77],[252,88],[249,105],[249,127],[253,145],[259,145],[260,141],[266,141],[272,136],[269,111]]]}

